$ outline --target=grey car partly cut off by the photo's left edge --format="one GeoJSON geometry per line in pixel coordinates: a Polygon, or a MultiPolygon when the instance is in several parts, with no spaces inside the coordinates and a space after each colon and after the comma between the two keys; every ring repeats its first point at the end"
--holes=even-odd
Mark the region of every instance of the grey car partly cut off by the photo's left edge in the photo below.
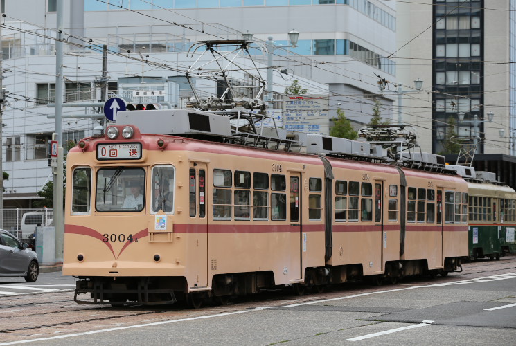
{"type": "Polygon", "coordinates": [[[28,244],[0,229],[0,277],[23,276],[26,282],[35,282],[38,275],[36,253],[28,248],[28,244]]]}

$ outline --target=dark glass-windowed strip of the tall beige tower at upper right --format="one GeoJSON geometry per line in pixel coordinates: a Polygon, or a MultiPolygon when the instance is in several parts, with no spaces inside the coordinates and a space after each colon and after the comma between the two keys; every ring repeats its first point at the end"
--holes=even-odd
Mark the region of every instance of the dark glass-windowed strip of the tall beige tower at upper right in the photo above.
{"type": "MultiPolygon", "coordinates": [[[[483,118],[483,0],[434,0],[432,152],[443,152],[444,141],[456,136],[473,142],[474,115],[480,138],[483,118]],[[464,113],[459,121],[458,113],[464,113]]],[[[487,116],[486,116],[487,119],[487,116]]],[[[479,140],[477,153],[483,152],[479,140]]]]}

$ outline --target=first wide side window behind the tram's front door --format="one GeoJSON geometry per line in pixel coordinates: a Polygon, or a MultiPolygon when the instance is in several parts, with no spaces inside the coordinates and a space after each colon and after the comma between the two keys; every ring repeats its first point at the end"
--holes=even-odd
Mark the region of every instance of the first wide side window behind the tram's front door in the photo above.
{"type": "Polygon", "coordinates": [[[231,170],[213,170],[213,219],[231,219],[231,170]]]}

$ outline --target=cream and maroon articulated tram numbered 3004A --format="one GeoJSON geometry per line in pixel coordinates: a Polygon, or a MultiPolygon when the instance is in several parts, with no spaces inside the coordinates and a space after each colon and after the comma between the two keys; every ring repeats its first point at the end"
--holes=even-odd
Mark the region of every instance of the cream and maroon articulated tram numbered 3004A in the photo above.
{"type": "Polygon", "coordinates": [[[63,274],[78,278],[75,301],[198,305],[271,286],[446,275],[468,255],[460,176],[226,143],[225,130],[188,138],[222,118],[120,112],[105,136],[71,149],[63,274]],[[168,128],[178,124],[193,131],[168,128]]]}

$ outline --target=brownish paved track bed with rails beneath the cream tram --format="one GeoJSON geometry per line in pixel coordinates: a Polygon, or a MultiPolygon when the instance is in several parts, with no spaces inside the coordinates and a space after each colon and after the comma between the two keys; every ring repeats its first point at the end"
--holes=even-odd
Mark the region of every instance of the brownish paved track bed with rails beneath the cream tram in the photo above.
{"type": "MultiPolygon", "coordinates": [[[[445,280],[461,280],[463,277],[476,277],[492,275],[496,272],[516,271],[516,257],[506,257],[502,261],[474,262],[465,265],[462,273],[455,273],[450,277],[438,277],[436,280],[429,280],[426,277],[414,277],[404,280],[403,284],[424,286],[426,284],[443,282],[445,280]],[[506,262],[507,261],[507,262],[506,262]],[[505,262],[505,263],[504,263],[505,262]]],[[[75,326],[79,329],[88,330],[96,327],[98,323],[105,322],[110,324],[133,324],[134,322],[145,320],[166,320],[175,316],[197,316],[206,313],[222,313],[227,311],[237,311],[242,309],[253,309],[258,305],[269,304],[290,304],[294,301],[319,300],[321,298],[335,297],[335,295],[353,295],[357,292],[377,291],[383,289],[379,286],[370,286],[364,282],[354,282],[350,284],[340,284],[332,286],[325,293],[312,293],[303,297],[294,297],[285,290],[272,290],[263,295],[250,295],[245,298],[238,298],[238,302],[231,306],[217,306],[208,304],[204,309],[188,309],[182,304],[175,304],[166,309],[160,307],[90,307],[73,303],[72,294],[69,291],[63,292],[44,292],[38,295],[17,295],[6,297],[12,304],[0,305],[0,322],[3,322],[0,329],[1,338],[14,338],[19,340],[15,334],[23,334],[24,331],[51,331],[75,326]],[[56,296],[60,294],[59,296],[56,296]],[[64,296],[63,296],[64,295],[64,296]],[[69,295],[69,299],[66,297],[69,295]],[[42,298],[45,297],[43,300],[42,298]],[[55,300],[51,300],[55,297],[55,300]],[[30,301],[23,302],[30,298],[30,301]],[[46,307],[46,311],[43,307],[46,307]],[[84,318],[84,315],[89,317],[84,318]],[[98,316],[97,316],[98,315],[98,316]],[[35,318],[40,316],[40,318],[35,318]],[[82,316],[82,317],[81,317],[82,316]],[[148,316],[145,318],[145,316],[148,316]],[[137,320],[136,320],[137,319],[137,320]],[[39,321],[57,321],[39,324],[39,321]],[[6,323],[8,322],[8,323],[6,323]]],[[[54,332],[54,331],[52,331],[54,332]]]]}

